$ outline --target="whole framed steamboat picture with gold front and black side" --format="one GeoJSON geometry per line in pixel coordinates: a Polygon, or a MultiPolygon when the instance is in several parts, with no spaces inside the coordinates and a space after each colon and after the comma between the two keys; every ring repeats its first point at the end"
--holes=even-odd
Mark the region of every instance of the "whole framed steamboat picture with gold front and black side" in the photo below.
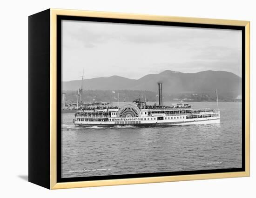
{"type": "Polygon", "coordinates": [[[249,21],[29,16],[29,181],[249,176],[249,21]]]}

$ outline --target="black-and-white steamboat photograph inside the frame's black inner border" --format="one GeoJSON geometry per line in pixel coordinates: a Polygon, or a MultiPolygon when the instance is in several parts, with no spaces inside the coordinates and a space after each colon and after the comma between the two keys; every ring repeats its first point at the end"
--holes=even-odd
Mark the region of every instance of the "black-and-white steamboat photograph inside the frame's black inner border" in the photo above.
{"type": "Polygon", "coordinates": [[[61,20],[61,178],[242,168],[242,40],[61,20]]]}

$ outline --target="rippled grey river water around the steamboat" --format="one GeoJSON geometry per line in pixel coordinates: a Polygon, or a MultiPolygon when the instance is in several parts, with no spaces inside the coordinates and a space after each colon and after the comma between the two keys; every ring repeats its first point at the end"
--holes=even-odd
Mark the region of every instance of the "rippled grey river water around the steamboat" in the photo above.
{"type": "Polygon", "coordinates": [[[241,168],[242,103],[219,107],[220,124],[148,128],[76,127],[74,113],[63,113],[61,177],[241,168]]]}

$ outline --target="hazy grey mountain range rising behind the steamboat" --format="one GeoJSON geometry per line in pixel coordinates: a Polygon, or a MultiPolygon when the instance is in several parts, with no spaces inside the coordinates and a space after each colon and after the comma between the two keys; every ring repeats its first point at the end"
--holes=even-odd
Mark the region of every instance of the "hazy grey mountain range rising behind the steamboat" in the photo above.
{"type": "MultiPolygon", "coordinates": [[[[128,79],[120,76],[108,78],[84,79],[84,90],[146,90],[157,92],[157,82],[163,83],[164,93],[213,92],[239,95],[242,90],[242,78],[225,71],[203,71],[181,73],[166,70],[158,74],[148,74],[140,79],[128,79]]],[[[81,80],[62,82],[63,90],[77,90],[81,80]]]]}

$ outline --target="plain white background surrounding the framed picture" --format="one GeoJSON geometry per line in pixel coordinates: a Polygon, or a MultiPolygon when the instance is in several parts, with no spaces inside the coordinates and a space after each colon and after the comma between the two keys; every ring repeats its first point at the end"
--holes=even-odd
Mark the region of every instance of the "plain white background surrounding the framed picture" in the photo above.
{"type": "MultiPolygon", "coordinates": [[[[49,7],[123,13],[188,16],[251,21],[251,76],[256,74],[255,5],[252,0],[6,0],[1,1],[1,197],[253,197],[255,195],[255,105],[251,103],[251,177],[123,185],[49,191],[25,181],[28,137],[28,15],[49,7]],[[19,119],[10,119],[19,110],[19,119]],[[25,178],[25,179],[24,179],[25,178]]],[[[251,78],[251,101],[256,91],[251,78]]]]}

